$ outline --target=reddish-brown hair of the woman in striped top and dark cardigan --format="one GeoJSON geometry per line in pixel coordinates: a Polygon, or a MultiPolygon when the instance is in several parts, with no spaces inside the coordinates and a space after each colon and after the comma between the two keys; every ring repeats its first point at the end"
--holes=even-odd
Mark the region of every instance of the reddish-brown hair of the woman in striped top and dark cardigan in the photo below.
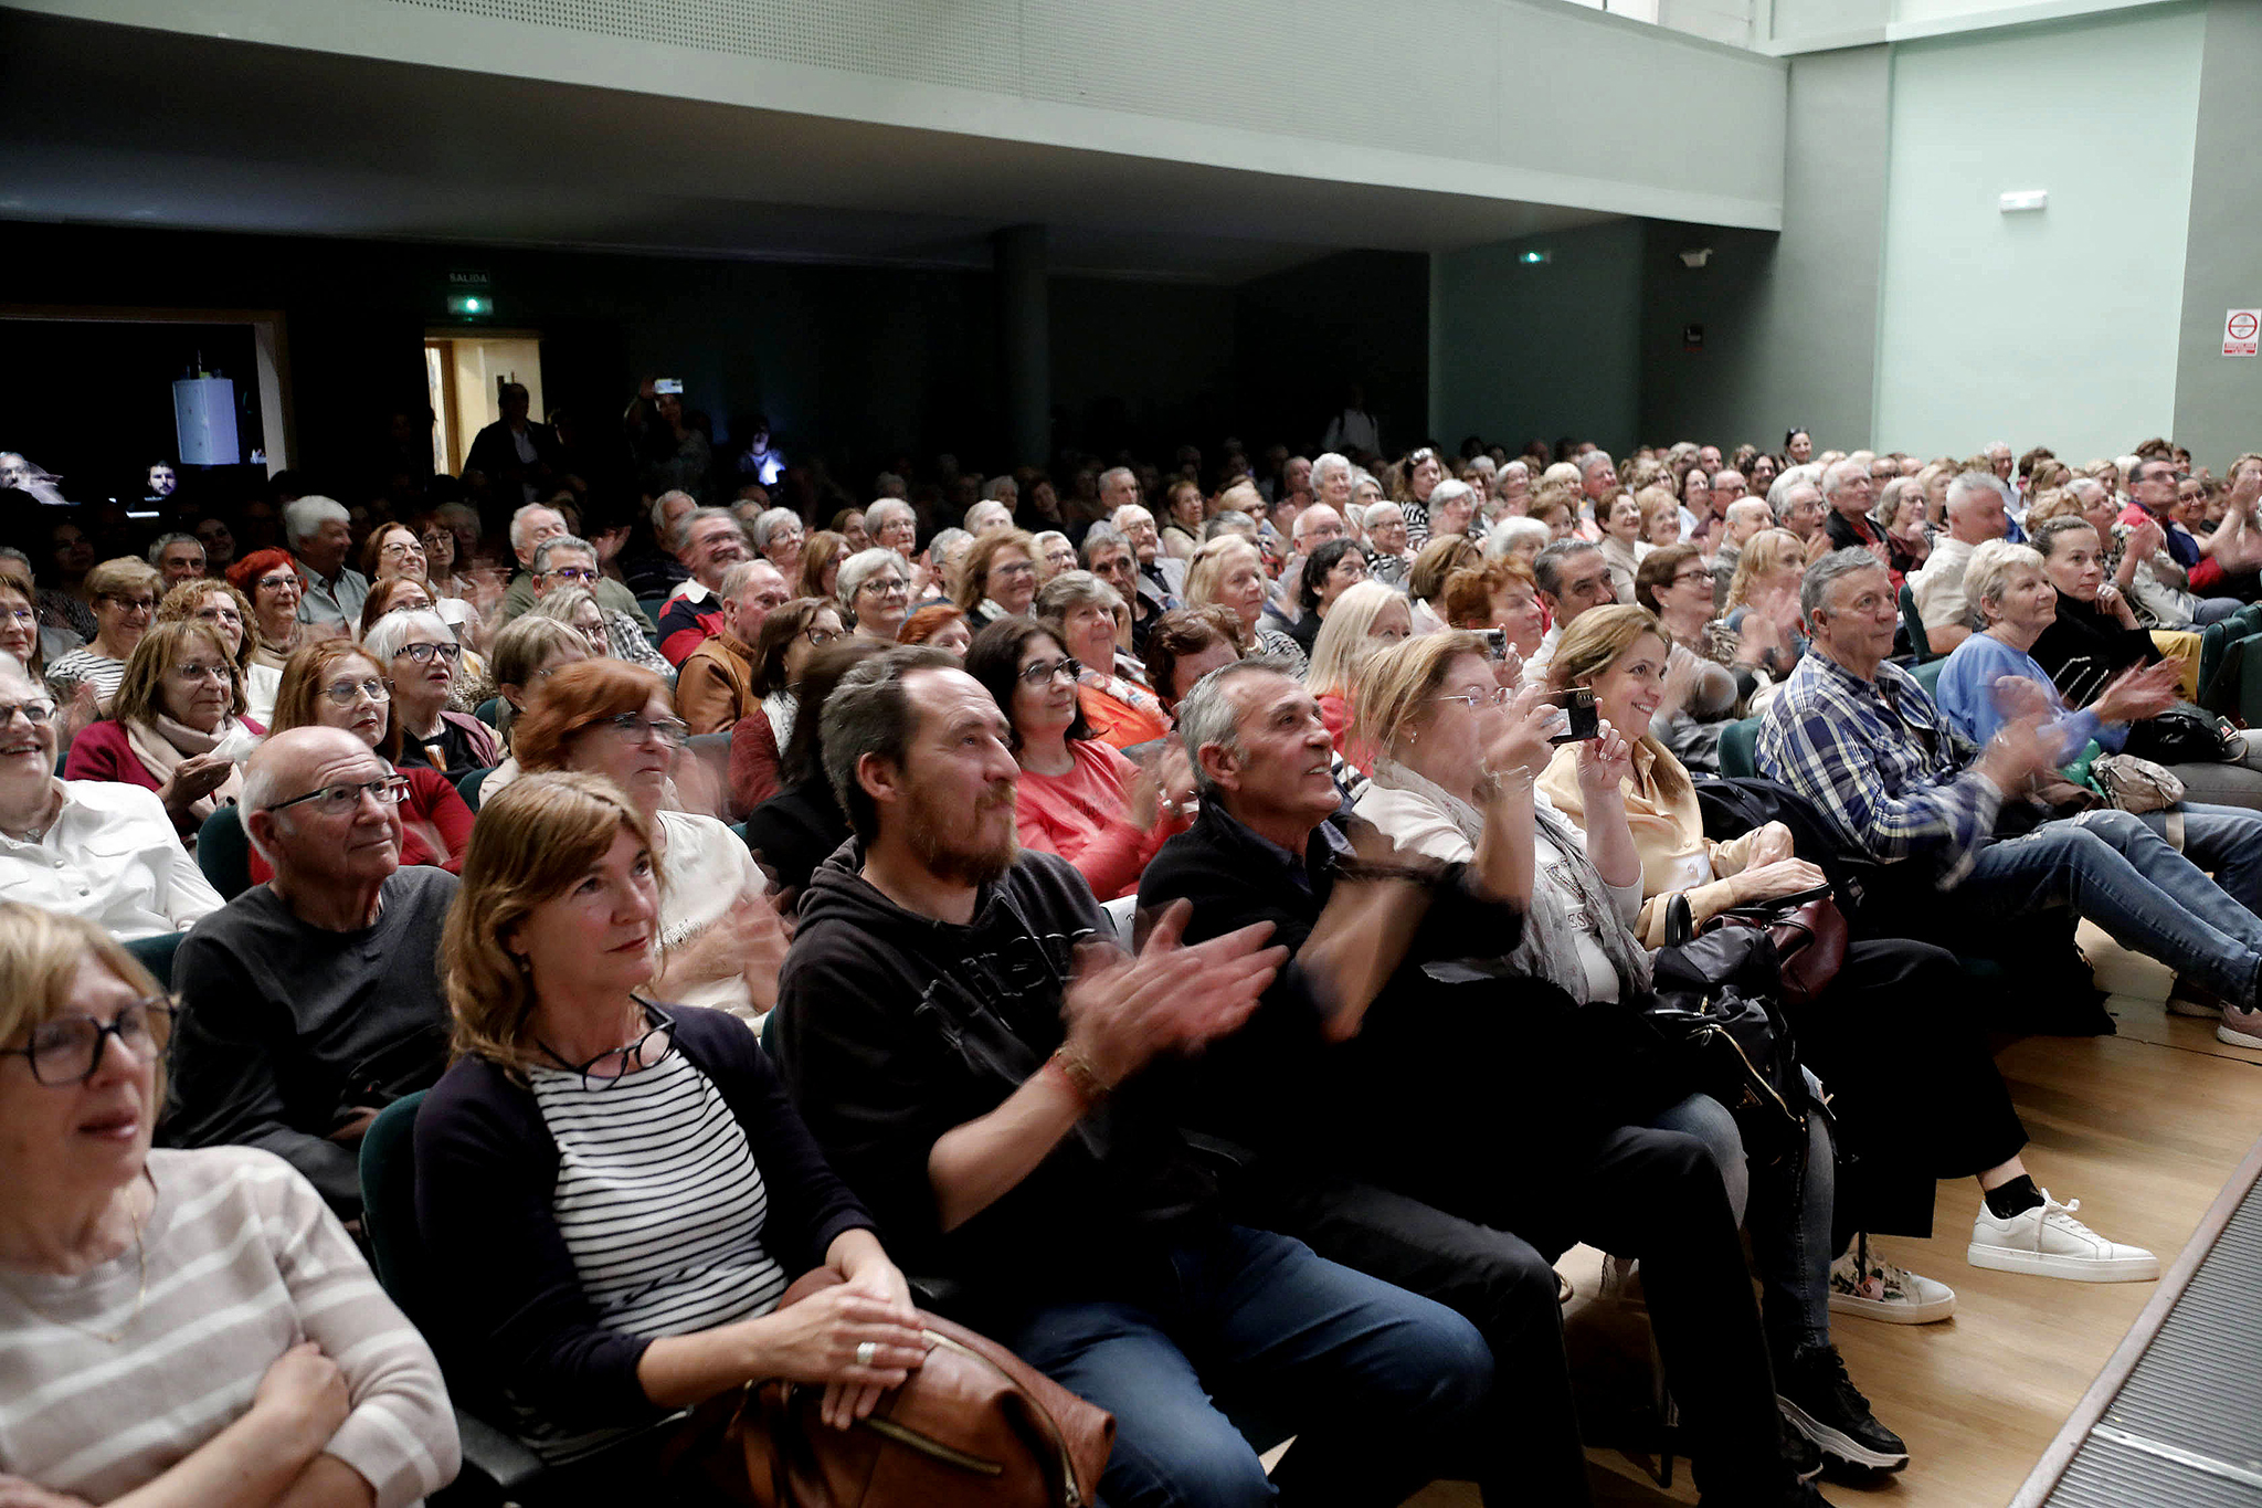
{"type": "Polygon", "coordinates": [[[536,1060],[534,977],[504,938],[604,859],[622,830],[651,848],[651,825],[604,775],[520,775],[480,807],[441,931],[455,1056],[520,1072],[536,1060]]]}

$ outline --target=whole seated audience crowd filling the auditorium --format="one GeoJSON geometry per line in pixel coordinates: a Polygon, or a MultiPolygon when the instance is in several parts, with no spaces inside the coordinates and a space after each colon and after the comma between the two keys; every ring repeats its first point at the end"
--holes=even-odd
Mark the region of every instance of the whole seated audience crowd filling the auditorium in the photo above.
{"type": "Polygon", "coordinates": [[[1583,1503],[1590,1243],[1703,1501],[1816,1503],[1909,1465],[1834,1329],[1957,1309],[1884,1250],[1939,1178],[1972,1266],[2158,1275],[1988,1056],[2090,1029],[2072,918],[2262,1047],[2262,454],[1369,421],[860,500],[676,393],[566,434],[0,495],[0,1501],[412,1503],[450,1399],[848,1429],[927,1305],[1115,1415],[1115,1506],[1583,1503]],[[1771,1117],[1660,1020],[1823,902],[1771,1117]]]}

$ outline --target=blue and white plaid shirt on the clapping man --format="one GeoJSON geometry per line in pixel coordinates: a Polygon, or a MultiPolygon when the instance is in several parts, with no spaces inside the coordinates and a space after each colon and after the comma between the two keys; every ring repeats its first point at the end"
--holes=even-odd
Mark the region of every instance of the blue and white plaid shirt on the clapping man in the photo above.
{"type": "Polygon", "coordinates": [[[1814,803],[1853,855],[1929,861],[1943,891],[1970,873],[2002,807],[1970,757],[1909,671],[1887,662],[1862,681],[1819,649],[1760,723],[1762,775],[1814,803]]]}

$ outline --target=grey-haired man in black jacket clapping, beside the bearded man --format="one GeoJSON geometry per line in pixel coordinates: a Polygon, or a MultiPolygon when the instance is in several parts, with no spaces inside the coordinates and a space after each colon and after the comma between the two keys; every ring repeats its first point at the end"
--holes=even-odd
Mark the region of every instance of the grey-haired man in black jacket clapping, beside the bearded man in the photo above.
{"type": "Polygon", "coordinates": [[[1504,1456],[1486,1501],[1586,1501],[1549,1253],[1509,1234],[1529,1230],[1549,1248],[1590,1239],[1642,1259],[1706,1501],[1814,1503],[1782,1454],[1760,1314],[1710,1155],[1678,1133],[1611,1124],[1595,1103],[1608,1094],[1588,1094],[1595,1126],[1540,1115],[1525,1137],[1506,1103],[1536,1106],[1543,1092],[1520,1083],[1518,1054],[1549,1063],[1556,1081],[1588,1063],[1538,1045],[1547,1013],[1516,999],[1522,986],[1488,979],[1484,1006],[1464,1015],[1430,983],[1425,965],[1504,954],[1522,934],[1522,913],[1491,898],[1529,893],[1529,782],[1495,785],[1466,873],[1355,882],[1335,821],[1332,739],[1298,681],[1269,660],[1226,665],[1179,703],[1179,735],[1201,814],[1156,855],[1140,904],[1192,902],[1192,938],[1269,925],[1292,954],[1255,1017],[1203,1054],[1188,1115],[1194,1130],[1253,1151],[1246,1187],[1271,1223],[1477,1323],[1497,1372],[1486,1433],[1504,1456]],[[1502,1013],[1522,1017],[1513,1040],[1495,1035],[1502,1013]],[[1321,1038],[1339,1047],[1314,1051],[1321,1038]],[[1398,1137],[1380,1121],[1421,1130],[1398,1137]],[[1369,1155],[1382,1146],[1393,1151],[1369,1155]],[[1540,1158],[1552,1169],[1525,1167],[1540,1158]],[[1362,1162],[1375,1182],[1362,1182],[1362,1162]],[[1448,1171],[1477,1167],[1502,1176],[1448,1171]],[[1543,1191],[1554,1178],[1579,1194],[1543,1191]]]}

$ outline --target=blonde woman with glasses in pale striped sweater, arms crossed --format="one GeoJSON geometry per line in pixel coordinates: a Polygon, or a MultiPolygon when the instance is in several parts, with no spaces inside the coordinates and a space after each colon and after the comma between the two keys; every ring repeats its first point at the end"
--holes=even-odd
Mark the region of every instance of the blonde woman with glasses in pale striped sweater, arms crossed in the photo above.
{"type": "Polygon", "coordinates": [[[0,1499],[441,1490],[439,1366],[314,1187],[249,1146],[149,1146],[170,1029],[102,927],[0,902],[0,1499]]]}

